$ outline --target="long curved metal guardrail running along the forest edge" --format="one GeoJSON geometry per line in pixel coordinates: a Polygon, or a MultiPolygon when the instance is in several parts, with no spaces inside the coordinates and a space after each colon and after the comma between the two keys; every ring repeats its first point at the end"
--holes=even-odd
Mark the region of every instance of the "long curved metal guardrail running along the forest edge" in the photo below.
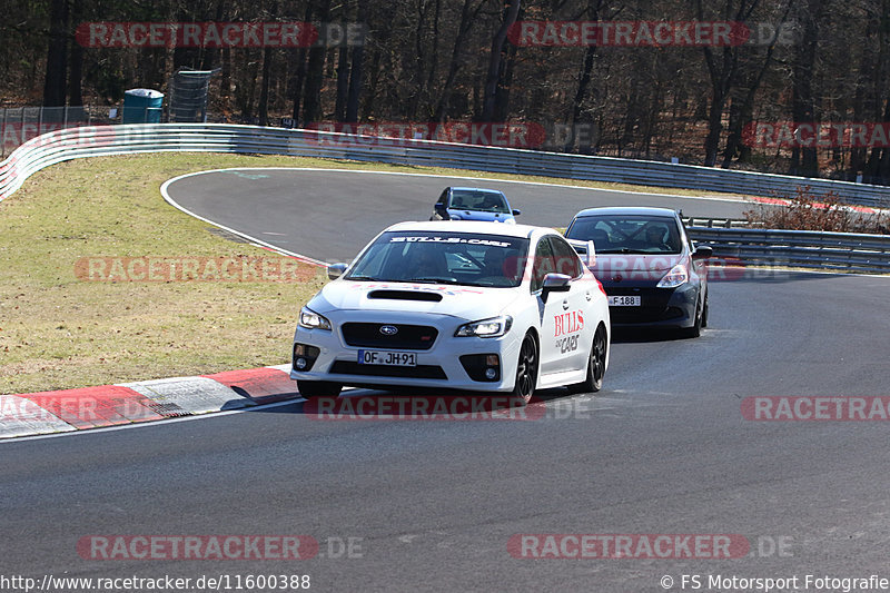
{"type": "Polygon", "coordinates": [[[770,196],[773,192],[793,195],[798,187],[810,186],[817,194],[834,191],[850,204],[890,206],[890,188],[849,181],[230,123],[146,123],[50,132],[29,140],[0,165],[0,198],[18,189],[29,175],[55,162],[100,155],[164,150],[290,155],[427,165],[755,196],[770,196]]]}

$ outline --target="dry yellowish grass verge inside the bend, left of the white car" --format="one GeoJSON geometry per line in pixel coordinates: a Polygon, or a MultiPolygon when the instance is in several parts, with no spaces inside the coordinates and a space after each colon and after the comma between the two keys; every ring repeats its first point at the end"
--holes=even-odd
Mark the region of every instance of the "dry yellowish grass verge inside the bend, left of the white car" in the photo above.
{"type": "Polygon", "coordinates": [[[476,171],[322,159],[156,154],[80,159],[31,177],[0,201],[0,394],[284,364],[299,307],[326,281],[83,281],[83,257],[269,257],[226,240],[160,197],[177,175],[226,167],[327,167],[523,179],[698,195],[476,171]]]}

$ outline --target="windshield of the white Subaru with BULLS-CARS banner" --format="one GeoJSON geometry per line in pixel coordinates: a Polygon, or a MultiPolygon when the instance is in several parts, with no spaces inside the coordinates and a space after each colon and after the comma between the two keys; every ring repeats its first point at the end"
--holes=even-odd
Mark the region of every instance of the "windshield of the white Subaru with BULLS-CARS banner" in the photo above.
{"type": "Polygon", "coordinates": [[[528,239],[448,231],[380,235],[345,278],[462,286],[514,287],[522,283],[528,239]]]}

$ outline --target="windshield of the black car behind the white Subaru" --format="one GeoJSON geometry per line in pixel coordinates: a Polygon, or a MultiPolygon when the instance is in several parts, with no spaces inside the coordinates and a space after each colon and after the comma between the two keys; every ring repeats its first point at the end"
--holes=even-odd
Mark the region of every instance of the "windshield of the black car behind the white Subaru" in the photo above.
{"type": "Polygon", "coordinates": [[[676,220],[655,216],[585,216],[565,234],[570,239],[592,240],[597,254],[679,254],[682,250],[676,220]]]}

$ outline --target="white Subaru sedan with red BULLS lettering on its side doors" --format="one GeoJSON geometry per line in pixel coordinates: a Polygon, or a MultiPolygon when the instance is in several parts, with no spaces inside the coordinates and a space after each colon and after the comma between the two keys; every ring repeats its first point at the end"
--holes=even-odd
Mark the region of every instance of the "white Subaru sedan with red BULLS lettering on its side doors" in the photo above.
{"type": "Polygon", "coordinates": [[[412,386],[510,392],[523,405],[536,388],[602,386],[606,295],[553,229],[402,223],[328,276],[294,335],[290,377],[306,398],[412,386]]]}

